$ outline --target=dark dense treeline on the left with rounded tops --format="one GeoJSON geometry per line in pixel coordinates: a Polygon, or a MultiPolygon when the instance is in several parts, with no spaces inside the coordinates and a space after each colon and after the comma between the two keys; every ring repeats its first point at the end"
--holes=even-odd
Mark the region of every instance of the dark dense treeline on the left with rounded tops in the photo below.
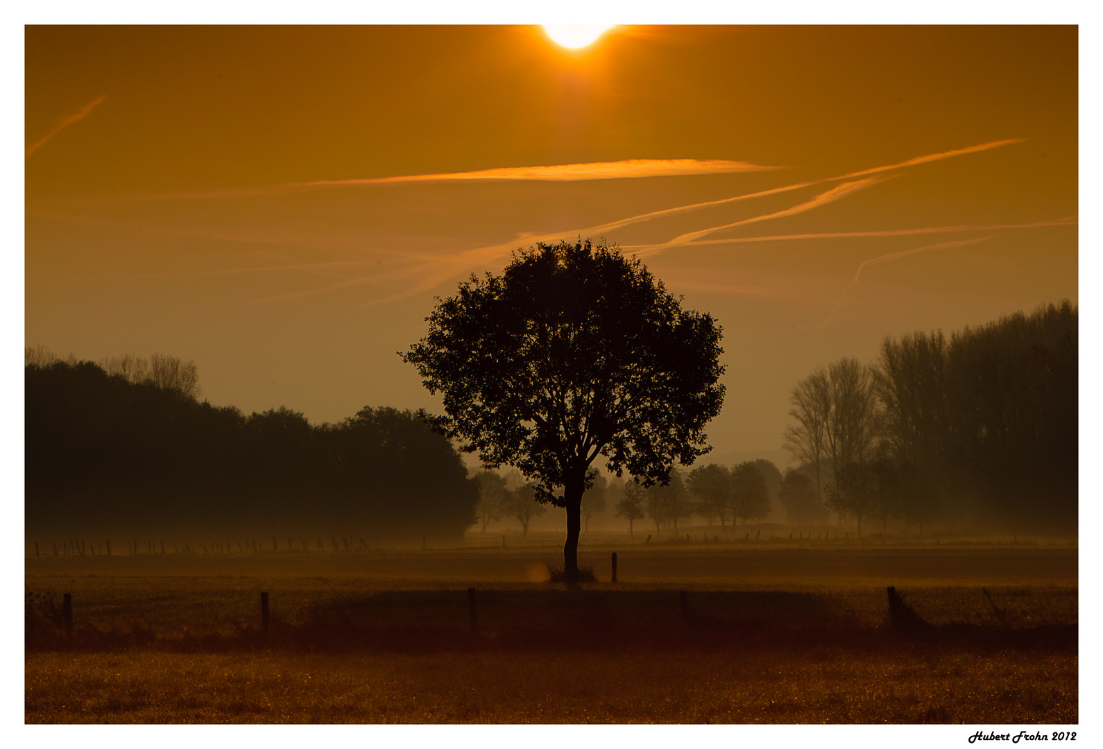
{"type": "Polygon", "coordinates": [[[189,528],[459,538],[478,488],[420,413],[364,408],[312,426],[285,407],[200,403],[169,356],[101,364],[29,350],[26,528],[189,528]]]}

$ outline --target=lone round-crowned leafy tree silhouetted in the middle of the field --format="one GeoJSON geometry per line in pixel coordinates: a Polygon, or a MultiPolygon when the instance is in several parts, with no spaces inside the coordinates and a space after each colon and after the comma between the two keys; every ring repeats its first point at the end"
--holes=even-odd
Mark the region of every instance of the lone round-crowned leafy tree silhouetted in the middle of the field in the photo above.
{"type": "Polygon", "coordinates": [[[403,359],[443,393],[439,426],[566,509],[568,580],[578,579],[580,504],[598,456],[651,486],[709,449],[704,428],[724,402],[720,327],[603,240],[518,250],[501,276],[472,276],[427,321],[403,359]]]}

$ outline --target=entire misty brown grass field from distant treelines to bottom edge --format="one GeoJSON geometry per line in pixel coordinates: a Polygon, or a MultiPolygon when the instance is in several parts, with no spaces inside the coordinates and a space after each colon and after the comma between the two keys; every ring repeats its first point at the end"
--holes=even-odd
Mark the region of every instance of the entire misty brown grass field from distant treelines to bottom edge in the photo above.
{"type": "Polygon", "coordinates": [[[559,553],[30,557],[25,720],[1078,720],[1067,544],[598,543],[577,588],[544,581],[559,553]],[[889,627],[888,585],[929,630],[889,627]]]}

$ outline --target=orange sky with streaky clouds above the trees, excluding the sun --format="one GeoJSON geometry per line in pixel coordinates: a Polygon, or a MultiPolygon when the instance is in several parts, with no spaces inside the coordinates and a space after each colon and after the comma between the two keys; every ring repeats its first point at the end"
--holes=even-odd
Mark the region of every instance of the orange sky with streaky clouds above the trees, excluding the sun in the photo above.
{"type": "MultiPolygon", "coordinates": [[[[724,325],[720,459],[885,335],[1078,299],[1074,26],[26,30],[25,338],[205,397],[440,409],[395,352],[537,238],[724,325]]],[[[707,460],[707,459],[706,459],[707,460]]]]}

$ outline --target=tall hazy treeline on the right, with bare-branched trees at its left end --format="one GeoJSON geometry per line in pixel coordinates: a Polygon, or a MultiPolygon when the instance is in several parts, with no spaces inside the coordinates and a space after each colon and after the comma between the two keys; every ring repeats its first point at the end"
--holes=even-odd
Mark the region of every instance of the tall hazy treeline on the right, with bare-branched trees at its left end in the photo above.
{"type": "Polygon", "coordinates": [[[816,370],[791,396],[785,481],[859,527],[1074,529],[1078,319],[1064,300],[816,370]]]}

